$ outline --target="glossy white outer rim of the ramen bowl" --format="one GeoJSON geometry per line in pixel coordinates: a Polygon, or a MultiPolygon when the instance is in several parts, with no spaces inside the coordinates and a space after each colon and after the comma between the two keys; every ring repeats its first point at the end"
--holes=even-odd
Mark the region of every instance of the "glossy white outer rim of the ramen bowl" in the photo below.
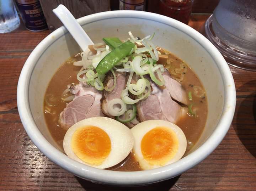
{"type": "Polygon", "coordinates": [[[208,139],[195,151],[175,163],[152,170],[135,172],[119,172],[97,169],[76,162],[73,159],[70,159],[64,153],[57,150],[57,148],[51,145],[46,138],[44,138],[34,122],[30,111],[28,90],[31,74],[44,50],[53,44],[56,39],[68,33],[63,26],[49,34],[35,47],[22,68],[17,86],[17,106],[21,122],[34,145],[36,145],[37,148],[44,153],[44,155],[46,155],[51,161],[58,164],[60,167],[68,170],[76,176],[79,176],[80,178],[87,179],[92,182],[123,186],[150,184],[173,178],[192,168],[194,165],[198,164],[210,153],[212,153],[229,130],[230,124],[233,120],[236,104],[236,92],[233,76],[223,56],[220,54],[217,48],[210,43],[209,40],[207,40],[202,34],[193,28],[176,21],[175,19],[158,15],[156,13],[142,11],[107,11],[81,17],[78,19],[78,22],[81,25],[85,25],[101,19],[110,19],[116,17],[149,19],[151,21],[161,22],[171,27],[175,27],[181,32],[195,39],[206,49],[209,55],[212,56],[220,74],[222,75],[224,85],[224,105],[219,122],[208,139]]]}

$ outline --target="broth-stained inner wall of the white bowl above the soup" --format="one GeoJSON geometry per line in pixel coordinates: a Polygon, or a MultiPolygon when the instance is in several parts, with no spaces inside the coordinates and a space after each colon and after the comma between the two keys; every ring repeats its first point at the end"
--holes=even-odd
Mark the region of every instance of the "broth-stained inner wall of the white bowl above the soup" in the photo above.
{"type": "MultiPolygon", "coordinates": [[[[137,18],[136,22],[131,23],[130,18],[106,18],[82,24],[82,27],[95,43],[101,42],[102,38],[106,36],[118,36],[120,39],[127,39],[129,31],[142,38],[153,34],[155,31],[153,43],[184,60],[196,72],[206,89],[208,98],[207,123],[201,138],[191,152],[203,144],[215,129],[222,114],[224,102],[222,76],[208,50],[204,49],[196,39],[181,30],[149,19],[137,18]],[[106,22],[108,25],[104,24],[106,22]]],[[[33,118],[42,134],[52,145],[62,151],[62,148],[59,148],[54,142],[44,121],[44,92],[60,65],[70,56],[78,53],[80,49],[69,33],[64,34],[63,32],[60,36],[53,34],[50,36],[52,44],[46,47],[32,73],[29,102],[33,118]],[[41,93],[37,94],[36,92],[41,93]]]]}

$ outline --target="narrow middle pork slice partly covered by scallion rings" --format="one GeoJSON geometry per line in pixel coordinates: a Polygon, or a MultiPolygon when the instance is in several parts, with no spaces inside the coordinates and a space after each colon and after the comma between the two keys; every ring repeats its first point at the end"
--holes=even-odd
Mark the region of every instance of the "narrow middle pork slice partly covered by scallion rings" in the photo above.
{"type": "MultiPolygon", "coordinates": [[[[111,116],[107,111],[107,105],[110,100],[113,99],[121,99],[121,93],[126,88],[126,73],[124,72],[115,72],[116,73],[116,86],[112,91],[106,91],[103,90],[103,97],[101,101],[101,109],[102,112],[108,116],[111,116]]],[[[104,84],[107,86],[107,88],[111,88],[114,84],[114,78],[112,75],[109,75],[105,78],[104,84]]]]}

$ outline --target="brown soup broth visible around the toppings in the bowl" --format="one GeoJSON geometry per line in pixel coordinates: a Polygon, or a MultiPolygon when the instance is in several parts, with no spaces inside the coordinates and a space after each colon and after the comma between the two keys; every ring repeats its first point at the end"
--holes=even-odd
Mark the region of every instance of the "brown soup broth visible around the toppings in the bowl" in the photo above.
{"type": "MultiPolygon", "coordinates": [[[[192,108],[195,115],[191,116],[191,114],[187,114],[176,123],[176,125],[178,125],[183,130],[187,138],[187,150],[184,155],[186,156],[186,154],[191,150],[193,145],[196,144],[196,142],[198,141],[206,124],[206,95],[204,94],[202,83],[198,79],[197,75],[185,62],[183,62],[180,58],[172,55],[170,52],[167,52],[166,50],[163,50],[161,48],[159,48],[158,50],[164,55],[169,55],[167,63],[165,64],[165,68],[169,70],[172,78],[180,81],[181,85],[186,90],[187,95],[190,91],[193,92],[193,101],[189,102],[193,103],[192,108]],[[194,95],[195,90],[198,93],[198,96],[194,95]]],[[[81,60],[80,54],[71,57],[68,61],[63,63],[62,66],[60,66],[58,71],[50,80],[45,94],[44,117],[46,120],[46,124],[52,137],[61,148],[63,147],[63,138],[66,130],[60,127],[60,125],[58,124],[58,120],[59,114],[66,107],[66,104],[68,104],[68,102],[63,101],[61,97],[63,91],[67,88],[68,84],[79,83],[79,81],[76,79],[76,74],[79,72],[81,67],[73,66],[73,62],[78,60],[81,60]],[[49,105],[51,107],[49,107],[49,105]]],[[[138,162],[133,156],[133,153],[130,153],[130,155],[121,163],[108,169],[118,171],[141,170],[138,162]]]]}

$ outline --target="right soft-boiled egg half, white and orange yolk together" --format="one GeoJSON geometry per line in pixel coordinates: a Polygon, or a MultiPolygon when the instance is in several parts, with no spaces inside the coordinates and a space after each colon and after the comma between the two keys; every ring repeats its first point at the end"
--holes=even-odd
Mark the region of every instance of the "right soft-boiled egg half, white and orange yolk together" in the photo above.
{"type": "Polygon", "coordinates": [[[133,153],[143,170],[158,168],[178,161],[185,153],[187,139],[175,124],[148,120],[135,125],[133,153]]]}

